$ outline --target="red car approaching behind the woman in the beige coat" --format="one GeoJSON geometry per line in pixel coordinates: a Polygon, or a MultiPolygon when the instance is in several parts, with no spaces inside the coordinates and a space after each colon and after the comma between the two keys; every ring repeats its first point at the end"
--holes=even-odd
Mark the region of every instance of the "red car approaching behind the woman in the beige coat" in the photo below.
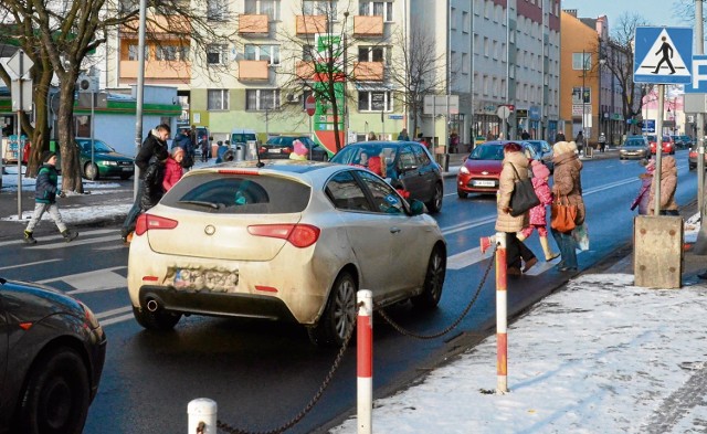
{"type": "MultiPolygon", "coordinates": [[[[496,193],[500,178],[504,146],[514,140],[493,140],[474,148],[464,159],[456,176],[456,194],[464,199],[468,193],[496,193]]],[[[546,162],[527,140],[516,141],[531,160],[546,162]]]]}

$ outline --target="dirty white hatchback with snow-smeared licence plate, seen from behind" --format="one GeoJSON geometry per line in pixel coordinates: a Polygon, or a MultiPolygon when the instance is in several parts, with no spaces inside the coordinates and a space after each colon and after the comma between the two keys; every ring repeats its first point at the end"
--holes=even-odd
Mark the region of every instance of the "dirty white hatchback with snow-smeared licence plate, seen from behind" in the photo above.
{"type": "Polygon", "coordinates": [[[421,202],[363,168],[262,163],[193,169],[138,218],[128,290],[143,327],[189,314],[294,320],[340,346],[359,288],[377,307],[437,305],[446,245],[421,202]]]}

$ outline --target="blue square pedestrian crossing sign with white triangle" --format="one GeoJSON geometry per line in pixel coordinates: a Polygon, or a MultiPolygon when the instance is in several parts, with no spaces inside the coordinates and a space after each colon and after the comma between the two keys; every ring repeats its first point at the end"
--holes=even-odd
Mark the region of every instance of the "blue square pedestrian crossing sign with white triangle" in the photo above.
{"type": "Polygon", "coordinates": [[[634,83],[692,83],[693,29],[636,28],[634,83]]]}

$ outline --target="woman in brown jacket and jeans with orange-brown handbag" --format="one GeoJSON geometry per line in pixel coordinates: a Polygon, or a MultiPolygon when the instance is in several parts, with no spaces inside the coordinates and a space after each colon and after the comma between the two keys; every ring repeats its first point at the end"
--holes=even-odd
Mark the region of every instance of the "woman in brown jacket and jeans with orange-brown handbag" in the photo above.
{"type": "MultiPolygon", "coordinates": [[[[558,141],[552,147],[552,161],[555,162],[552,194],[555,199],[563,198],[570,205],[577,207],[577,218],[574,223],[584,223],[584,200],[582,199],[582,180],[580,172],[582,161],[576,152],[577,145],[572,141],[558,141]]],[[[560,272],[576,272],[577,264],[577,241],[572,236],[572,231],[560,232],[552,229],[555,242],[560,247],[561,261],[557,265],[560,272]]]]}

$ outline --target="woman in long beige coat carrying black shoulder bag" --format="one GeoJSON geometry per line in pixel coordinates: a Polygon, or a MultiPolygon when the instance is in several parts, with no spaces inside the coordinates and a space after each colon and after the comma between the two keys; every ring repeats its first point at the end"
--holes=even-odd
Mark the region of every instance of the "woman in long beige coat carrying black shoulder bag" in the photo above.
{"type": "Polygon", "coordinates": [[[496,195],[496,232],[506,233],[506,273],[509,276],[520,276],[538,262],[530,248],[516,236],[516,233],[528,224],[528,212],[518,216],[510,215],[510,197],[515,182],[528,178],[528,158],[520,145],[511,141],[504,146],[503,168],[496,195]],[[516,172],[520,179],[516,179],[516,172]],[[523,271],[521,260],[525,262],[523,271]]]}

